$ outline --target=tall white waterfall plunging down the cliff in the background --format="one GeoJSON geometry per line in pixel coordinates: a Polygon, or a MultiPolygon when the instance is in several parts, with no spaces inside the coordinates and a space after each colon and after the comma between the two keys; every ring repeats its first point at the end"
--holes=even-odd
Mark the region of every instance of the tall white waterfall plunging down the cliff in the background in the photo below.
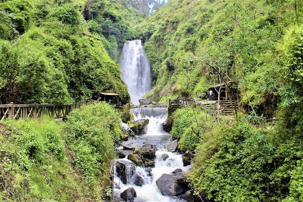
{"type": "Polygon", "coordinates": [[[141,40],[125,42],[120,63],[121,77],[128,87],[131,102],[138,105],[139,99],[151,90],[151,70],[141,40]]]}

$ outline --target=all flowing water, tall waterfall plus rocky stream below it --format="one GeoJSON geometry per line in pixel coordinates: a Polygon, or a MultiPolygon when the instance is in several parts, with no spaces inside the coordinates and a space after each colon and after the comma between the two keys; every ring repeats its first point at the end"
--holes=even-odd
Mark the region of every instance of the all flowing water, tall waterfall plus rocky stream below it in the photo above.
{"type": "MultiPolygon", "coordinates": [[[[128,86],[131,102],[139,105],[139,99],[151,90],[151,69],[140,40],[125,42],[120,63],[121,77],[128,86]]],[[[190,168],[190,165],[183,166],[181,153],[168,152],[168,147],[173,139],[169,133],[163,130],[162,126],[168,115],[167,108],[138,107],[131,108],[130,111],[134,120],[148,119],[149,123],[143,127],[145,134],[130,136],[127,141],[122,141],[117,148],[118,152],[123,153],[123,155],[122,158],[114,160],[113,196],[115,201],[125,201],[121,199],[120,194],[130,187],[133,187],[136,192],[135,202],[185,201],[180,197],[162,195],[156,183],[156,180],[164,173],[174,175],[171,172],[175,169],[182,169],[184,172],[190,168]],[[136,148],[143,149],[147,145],[155,152],[153,157],[148,159],[148,161],[154,162],[153,166],[136,166],[131,160],[128,160],[128,156],[134,155],[136,148]],[[167,154],[168,158],[163,160],[161,157],[163,154],[167,154]],[[125,157],[123,158],[123,156],[125,157]]],[[[124,123],[123,127],[128,128],[128,125],[124,123]]],[[[141,158],[143,157],[141,156],[141,158]]],[[[147,159],[142,160],[145,163],[147,159]]],[[[165,186],[172,185],[168,183],[165,186]]]]}

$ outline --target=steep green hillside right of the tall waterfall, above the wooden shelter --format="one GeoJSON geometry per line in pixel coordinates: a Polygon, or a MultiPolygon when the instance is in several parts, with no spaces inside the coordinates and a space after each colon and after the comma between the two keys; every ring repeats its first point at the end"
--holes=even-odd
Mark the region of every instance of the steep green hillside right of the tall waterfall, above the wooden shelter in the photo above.
{"type": "Polygon", "coordinates": [[[280,87],[291,89],[284,76],[293,77],[279,72],[301,66],[292,63],[300,58],[301,9],[301,1],[169,1],[137,26],[154,72],[149,97],[196,96],[232,81],[245,105],[272,115],[285,96],[280,87]]]}

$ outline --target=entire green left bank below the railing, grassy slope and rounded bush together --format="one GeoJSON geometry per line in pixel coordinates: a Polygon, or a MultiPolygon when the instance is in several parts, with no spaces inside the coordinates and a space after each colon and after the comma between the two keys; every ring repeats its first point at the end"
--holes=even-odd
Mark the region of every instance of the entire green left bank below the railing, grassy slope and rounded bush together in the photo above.
{"type": "Polygon", "coordinates": [[[75,109],[67,122],[0,123],[0,201],[102,201],[118,112],[105,103],[75,109]]]}

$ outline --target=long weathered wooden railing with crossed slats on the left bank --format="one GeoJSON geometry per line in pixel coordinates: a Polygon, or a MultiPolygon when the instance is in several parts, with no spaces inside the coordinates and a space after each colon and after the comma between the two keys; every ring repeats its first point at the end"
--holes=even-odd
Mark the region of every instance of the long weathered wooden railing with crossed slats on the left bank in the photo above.
{"type": "Polygon", "coordinates": [[[14,104],[0,105],[0,121],[4,119],[38,119],[42,116],[60,119],[65,118],[73,109],[85,103],[55,104],[14,104]]]}

